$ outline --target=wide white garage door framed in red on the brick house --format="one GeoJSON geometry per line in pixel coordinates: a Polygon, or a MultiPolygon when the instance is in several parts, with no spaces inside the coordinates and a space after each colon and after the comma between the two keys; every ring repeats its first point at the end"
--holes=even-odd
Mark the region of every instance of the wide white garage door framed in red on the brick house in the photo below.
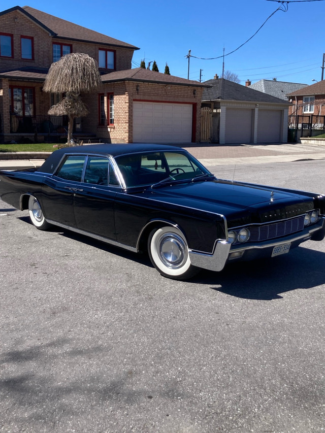
{"type": "Polygon", "coordinates": [[[134,143],[190,143],[192,105],[133,103],[134,143]]]}

